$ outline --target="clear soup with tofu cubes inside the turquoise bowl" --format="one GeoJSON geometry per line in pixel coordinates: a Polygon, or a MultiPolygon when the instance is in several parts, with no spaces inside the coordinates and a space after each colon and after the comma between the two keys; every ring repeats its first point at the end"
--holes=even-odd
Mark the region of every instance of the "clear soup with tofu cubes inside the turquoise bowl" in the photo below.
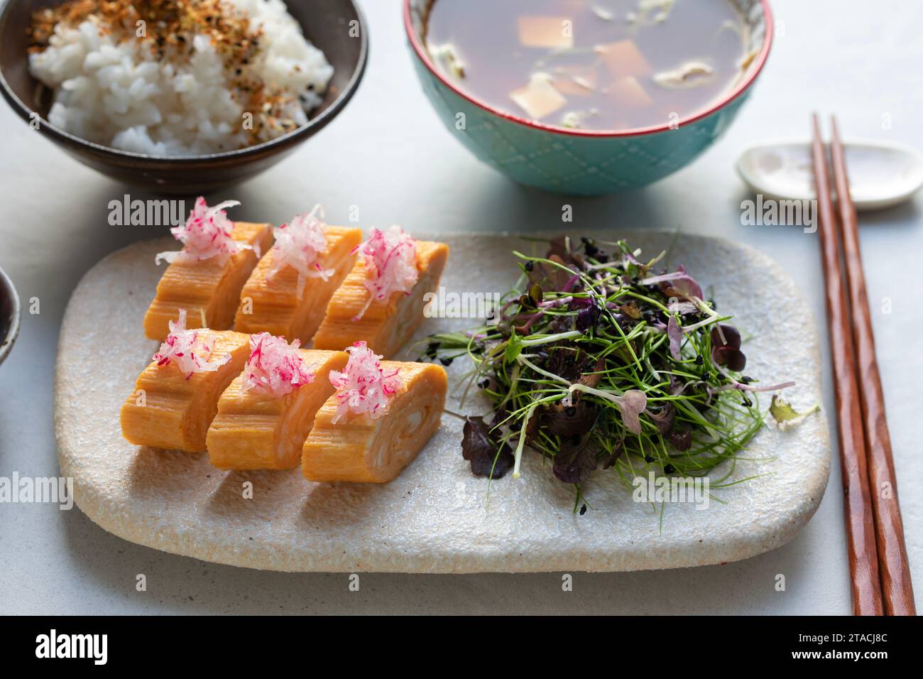
{"type": "Polygon", "coordinates": [[[700,112],[753,57],[731,0],[435,0],[425,38],[438,67],[474,99],[598,130],[700,112]]]}

